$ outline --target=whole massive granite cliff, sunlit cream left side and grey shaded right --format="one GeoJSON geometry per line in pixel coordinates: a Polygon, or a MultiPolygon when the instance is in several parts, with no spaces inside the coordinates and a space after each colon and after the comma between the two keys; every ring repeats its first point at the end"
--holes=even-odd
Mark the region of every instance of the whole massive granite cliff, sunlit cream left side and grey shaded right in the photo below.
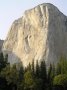
{"type": "Polygon", "coordinates": [[[19,58],[24,66],[32,60],[43,59],[47,65],[57,62],[67,56],[67,17],[47,3],[25,11],[12,24],[3,51],[8,53],[10,62],[19,58]]]}

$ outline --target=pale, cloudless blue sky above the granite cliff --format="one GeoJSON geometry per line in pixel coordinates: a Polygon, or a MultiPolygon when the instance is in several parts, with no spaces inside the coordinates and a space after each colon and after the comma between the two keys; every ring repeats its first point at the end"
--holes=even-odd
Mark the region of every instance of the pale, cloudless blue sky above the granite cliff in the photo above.
{"type": "Polygon", "coordinates": [[[0,0],[0,39],[5,39],[14,20],[38,4],[52,3],[67,16],[67,0],[0,0]]]}

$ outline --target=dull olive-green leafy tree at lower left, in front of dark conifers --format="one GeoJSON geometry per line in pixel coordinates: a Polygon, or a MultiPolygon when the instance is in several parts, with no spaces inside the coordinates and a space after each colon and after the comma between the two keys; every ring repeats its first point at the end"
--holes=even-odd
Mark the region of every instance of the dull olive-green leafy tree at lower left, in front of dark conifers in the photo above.
{"type": "Polygon", "coordinates": [[[1,71],[1,77],[6,78],[8,84],[10,83],[17,84],[19,79],[18,76],[19,75],[15,65],[13,65],[13,67],[7,66],[1,71]]]}

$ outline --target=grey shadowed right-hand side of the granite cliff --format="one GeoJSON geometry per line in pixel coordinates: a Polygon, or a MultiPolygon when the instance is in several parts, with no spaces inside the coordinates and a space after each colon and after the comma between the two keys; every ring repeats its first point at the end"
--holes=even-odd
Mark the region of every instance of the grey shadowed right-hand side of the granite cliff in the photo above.
{"type": "Polygon", "coordinates": [[[49,27],[46,42],[48,47],[47,65],[50,63],[55,63],[56,65],[61,56],[67,57],[65,19],[66,17],[59,11],[50,11],[49,13],[49,27]],[[51,13],[53,13],[52,16],[51,13]]]}

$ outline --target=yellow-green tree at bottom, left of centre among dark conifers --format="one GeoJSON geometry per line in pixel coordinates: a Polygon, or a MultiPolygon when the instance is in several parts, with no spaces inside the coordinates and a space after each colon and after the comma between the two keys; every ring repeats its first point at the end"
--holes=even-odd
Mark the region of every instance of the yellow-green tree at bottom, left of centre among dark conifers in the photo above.
{"type": "Polygon", "coordinates": [[[32,72],[28,70],[24,74],[24,90],[34,90],[35,85],[35,79],[32,75],[32,72]]]}

